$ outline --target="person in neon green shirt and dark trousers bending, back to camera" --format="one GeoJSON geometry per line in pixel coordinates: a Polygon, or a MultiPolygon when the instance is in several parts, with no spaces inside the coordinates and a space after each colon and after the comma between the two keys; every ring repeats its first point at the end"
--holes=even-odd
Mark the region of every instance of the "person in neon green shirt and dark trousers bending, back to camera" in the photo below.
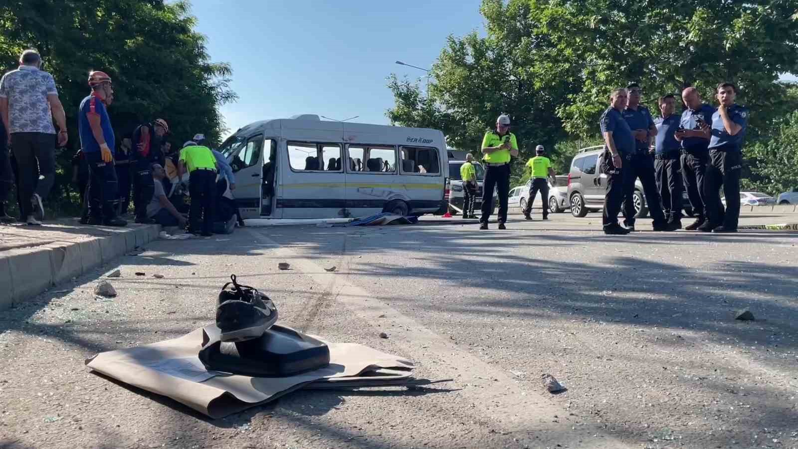
{"type": "Polygon", "coordinates": [[[187,141],[180,150],[177,165],[179,179],[183,178],[183,173],[186,173],[187,169],[188,195],[192,199],[188,213],[188,232],[211,236],[213,197],[216,187],[216,158],[211,149],[196,145],[195,141],[187,141]]]}

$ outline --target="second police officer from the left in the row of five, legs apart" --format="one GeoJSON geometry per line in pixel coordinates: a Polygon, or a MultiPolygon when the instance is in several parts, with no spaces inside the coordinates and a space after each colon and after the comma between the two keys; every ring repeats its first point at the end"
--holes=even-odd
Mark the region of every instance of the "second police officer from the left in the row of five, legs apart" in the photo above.
{"type": "Polygon", "coordinates": [[[630,231],[634,231],[634,180],[638,177],[643,185],[643,192],[646,194],[646,205],[653,220],[654,231],[674,231],[666,221],[665,214],[662,213],[659,193],[657,192],[657,181],[654,176],[654,161],[649,155],[651,139],[657,136],[657,126],[646,106],[640,104],[642,90],[637,83],[626,86],[629,93],[629,101],[626,109],[623,109],[623,119],[632,130],[634,137],[634,152],[626,156],[624,165],[630,170],[631,176],[624,178],[623,185],[623,224],[630,231]]]}

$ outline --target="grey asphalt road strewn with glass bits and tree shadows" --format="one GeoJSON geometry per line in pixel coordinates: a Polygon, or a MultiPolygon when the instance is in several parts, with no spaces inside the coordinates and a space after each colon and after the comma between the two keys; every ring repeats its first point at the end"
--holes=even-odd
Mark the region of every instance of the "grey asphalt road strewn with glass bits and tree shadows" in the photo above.
{"type": "Polygon", "coordinates": [[[798,447],[798,233],[522,218],[149,244],[0,318],[0,447],[798,447]],[[119,296],[95,300],[117,267],[119,296]],[[210,323],[230,273],[282,324],[453,380],[299,391],[211,420],[84,367],[210,323]],[[745,307],[757,320],[733,319],[745,307]],[[567,391],[544,391],[543,373],[567,391]]]}

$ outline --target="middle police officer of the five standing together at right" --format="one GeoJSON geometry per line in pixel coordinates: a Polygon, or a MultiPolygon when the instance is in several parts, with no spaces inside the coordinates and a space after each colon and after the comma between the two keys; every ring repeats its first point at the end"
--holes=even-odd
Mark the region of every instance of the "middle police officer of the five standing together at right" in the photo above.
{"type": "Polygon", "coordinates": [[[681,229],[681,195],[685,191],[681,180],[679,141],[676,132],[681,126],[681,117],[674,113],[676,97],[659,97],[662,117],[657,119],[657,137],[654,145],[654,168],[657,187],[662,198],[662,208],[671,228],[681,229]]]}

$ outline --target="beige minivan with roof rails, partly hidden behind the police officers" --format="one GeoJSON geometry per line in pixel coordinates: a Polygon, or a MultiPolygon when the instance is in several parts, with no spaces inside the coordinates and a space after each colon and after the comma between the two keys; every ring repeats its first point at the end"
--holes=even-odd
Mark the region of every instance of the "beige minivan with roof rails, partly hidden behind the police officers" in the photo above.
{"type": "MultiPolygon", "coordinates": [[[[579,150],[568,173],[567,197],[571,204],[571,215],[585,217],[588,212],[597,212],[604,207],[606,194],[606,173],[601,173],[604,146],[591,146],[579,150]]],[[[681,194],[681,205],[685,215],[693,217],[687,192],[681,194]]],[[[646,217],[648,205],[643,186],[639,179],[634,180],[635,217],[646,217]]]]}

